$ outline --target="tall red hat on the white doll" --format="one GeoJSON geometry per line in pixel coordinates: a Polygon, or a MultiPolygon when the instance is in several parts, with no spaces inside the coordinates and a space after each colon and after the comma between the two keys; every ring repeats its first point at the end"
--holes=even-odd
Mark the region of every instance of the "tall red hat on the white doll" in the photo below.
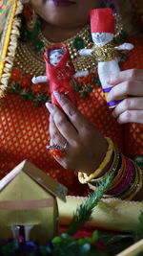
{"type": "Polygon", "coordinates": [[[92,33],[114,34],[112,8],[93,9],[90,12],[92,33]]]}

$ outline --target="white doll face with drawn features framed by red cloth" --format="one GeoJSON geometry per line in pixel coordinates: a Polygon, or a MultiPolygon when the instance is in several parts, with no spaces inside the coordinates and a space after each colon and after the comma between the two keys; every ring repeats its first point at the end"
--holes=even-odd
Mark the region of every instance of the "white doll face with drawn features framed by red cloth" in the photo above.
{"type": "Polygon", "coordinates": [[[49,59],[52,66],[56,66],[64,54],[64,49],[51,50],[49,59]]]}

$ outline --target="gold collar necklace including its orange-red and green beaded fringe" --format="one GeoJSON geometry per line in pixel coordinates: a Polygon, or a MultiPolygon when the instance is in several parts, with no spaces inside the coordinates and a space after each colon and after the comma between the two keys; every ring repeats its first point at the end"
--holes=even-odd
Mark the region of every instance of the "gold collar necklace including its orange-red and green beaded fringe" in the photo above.
{"type": "MultiPolygon", "coordinates": [[[[10,93],[19,94],[22,100],[32,100],[34,105],[51,101],[51,96],[47,90],[47,84],[33,84],[31,78],[33,76],[42,76],[46,73],[45,61],[43,54],[45,50],[53,43],[50,42],[42,32],[39,32],[38,39],[43,42],[44,47],[37,54],[35,53],[33,42],[19,42],[16,50],[13,70],[9,83],[10,93]]],[[[86,98],[91,93],[94,86],[100,86],[100,81],[97,78],[96,67],[97,62],[94,56],[80,57],[76,43],[82,43],[82,48],[90,49],[93,47],[90,27],[85,26],[79,33],[72,38],[63,41],[68,46],[75,71],[89,70],[90,74],[87,78],[77,79],[75,91],[78,92],[81,98],[86,98]]],[[[124,58],[124,56],[123,56],[124,58]]]]}

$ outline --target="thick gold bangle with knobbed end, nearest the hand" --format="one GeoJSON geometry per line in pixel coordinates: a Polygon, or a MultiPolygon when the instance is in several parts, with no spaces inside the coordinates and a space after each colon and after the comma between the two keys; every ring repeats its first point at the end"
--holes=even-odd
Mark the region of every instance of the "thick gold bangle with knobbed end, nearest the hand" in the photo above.
{"type": "Polygon", "coordinates": [[[109,143],[109,147],[108,147],[108,151],[106,153],[106,156],[104,157],[102,163],[99,165],[99,167],[94,171],[94,173],[92,173],[91,175],[87,175],[85,178],[84,173],[78,173],[78,180],[80,183],[82,184],[86,184],[88,182],[90,182],[93,178],[97,177],[98,175],[100,175],[102,173],[102,171],[104,170],[104,168],[106,167],[106,165],[110,162],[111,157],[112,157],[112,151],[113,151],[113,143],[112,140],[110,138],[106,137],[106,140],[109,143]]]}

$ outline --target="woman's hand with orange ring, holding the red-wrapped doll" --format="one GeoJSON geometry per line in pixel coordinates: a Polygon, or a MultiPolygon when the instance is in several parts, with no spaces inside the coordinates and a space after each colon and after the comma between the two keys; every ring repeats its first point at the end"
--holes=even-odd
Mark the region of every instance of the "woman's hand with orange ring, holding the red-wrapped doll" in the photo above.
{"type": "Polygon", "coordinates": [[[46,104],[51,113],[51,145],[68,142],[65,156],[55,159],[66,169],[91,174],[106,154],[107,141],[66,96],[57,92],[54,96],[63,112],[56,105],[46,104]]]}

